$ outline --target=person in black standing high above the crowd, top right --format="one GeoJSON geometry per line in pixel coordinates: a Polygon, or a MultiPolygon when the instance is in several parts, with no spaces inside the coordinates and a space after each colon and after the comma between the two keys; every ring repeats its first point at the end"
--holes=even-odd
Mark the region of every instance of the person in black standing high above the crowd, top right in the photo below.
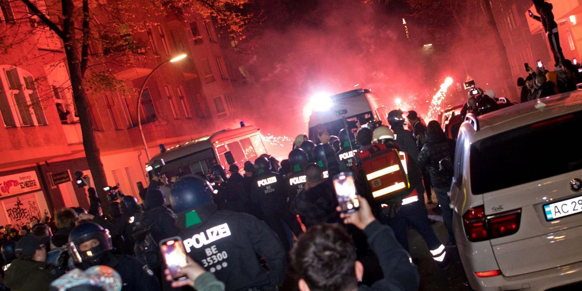
{"type": "Polygon", "coordinates": [[[531,18],[542,23],[546,36],[548,37],[549,47],[552,49],[553,59],[556,62],[555,66],[558,68],[565,58],[564,54],[562,54],[562,47],[560,47],[558,24],[553,19],[553,5],[544,0],[533,0],[533,2],[535,10],[540,16],[534,15],[531,10],[528,12],[531,18]]]}

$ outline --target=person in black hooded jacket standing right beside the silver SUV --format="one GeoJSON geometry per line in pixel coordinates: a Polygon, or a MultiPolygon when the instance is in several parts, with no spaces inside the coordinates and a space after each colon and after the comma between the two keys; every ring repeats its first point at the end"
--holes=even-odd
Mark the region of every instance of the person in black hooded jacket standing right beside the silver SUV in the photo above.
{"type": "Polygon", "coordinates": [[[432,189],[441,204],[443,221],[449,230],[449,241],[455,242],[453,235],[453,212],[450,209],[450,200],[447,192],[450,190],[450,183],[453,179],[452,169],[447,169],[442,165],[443,160],[453,164],[455,157],[455,141],[448,139],[436,120],[432,120],[427,126],[427,143],[418,155],[418,163],[427,169],[431,176],[432,189]]]}

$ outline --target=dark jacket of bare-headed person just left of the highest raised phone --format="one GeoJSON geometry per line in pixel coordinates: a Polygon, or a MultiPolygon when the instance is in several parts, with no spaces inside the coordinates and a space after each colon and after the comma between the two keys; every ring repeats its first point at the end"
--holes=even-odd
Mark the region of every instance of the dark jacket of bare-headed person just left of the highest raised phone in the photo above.
{"type": "Polygon", "coordinates": [[[291,203],[291,211],[299,214],[301,221],[306,228],[320,223],[340,222],[339,212],[335,210],[338,206],[338,198],[331,180],[325,180],[317,186],[303,190],[291,203]]]}

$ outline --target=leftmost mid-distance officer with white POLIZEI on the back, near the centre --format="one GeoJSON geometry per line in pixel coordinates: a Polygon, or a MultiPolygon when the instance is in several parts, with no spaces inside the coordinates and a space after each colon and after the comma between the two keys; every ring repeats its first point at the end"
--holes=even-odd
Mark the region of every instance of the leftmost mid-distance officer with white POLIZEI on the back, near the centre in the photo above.
{"type": "Polygon", "coordinates": [[[253,189],[251,190],[251,202],[261,208],[262,220],[275,230],[285,251],[288,251],[290,243],[281,220],[283,219],[287,223],[296,236],[299,236],[303,230],[289,211],[285,180],[279,173],[271,170],[271,162],[265,157],[255,159],[255,166],[257,167],[257,175],[254,177],[253,189]]]}

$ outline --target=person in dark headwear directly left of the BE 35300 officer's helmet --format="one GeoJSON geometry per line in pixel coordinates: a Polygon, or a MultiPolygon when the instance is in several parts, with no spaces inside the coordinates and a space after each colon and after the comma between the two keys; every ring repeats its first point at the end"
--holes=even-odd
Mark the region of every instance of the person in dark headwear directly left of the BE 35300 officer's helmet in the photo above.
{"type": "Polygon", "coordinates": [[[176,215],[166,207],[164,192],[159,189],[148,189],[145,197],[145,212],[141,216],[141,226],[150,229],[156,242],[176,236],[176,215]]]}

